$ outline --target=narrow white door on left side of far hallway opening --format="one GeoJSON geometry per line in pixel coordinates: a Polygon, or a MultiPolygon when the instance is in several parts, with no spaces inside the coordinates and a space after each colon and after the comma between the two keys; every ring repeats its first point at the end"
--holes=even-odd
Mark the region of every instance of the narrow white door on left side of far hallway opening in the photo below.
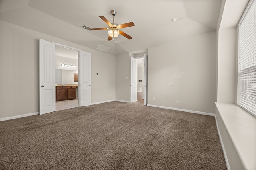
{"type": "Polygon", "coordinates": [[[131,57],[130,103],[137,102],[137,60],[131,57]]]}

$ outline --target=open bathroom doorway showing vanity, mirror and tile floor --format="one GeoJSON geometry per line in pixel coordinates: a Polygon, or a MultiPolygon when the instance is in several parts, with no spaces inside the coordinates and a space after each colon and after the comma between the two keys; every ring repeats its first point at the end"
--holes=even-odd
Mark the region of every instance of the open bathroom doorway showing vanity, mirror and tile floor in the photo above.
{"type": "Polygon", "coordinates": [[[78,107],[77,50],[55,45],[55,74],[56,111],[78,107]]]}

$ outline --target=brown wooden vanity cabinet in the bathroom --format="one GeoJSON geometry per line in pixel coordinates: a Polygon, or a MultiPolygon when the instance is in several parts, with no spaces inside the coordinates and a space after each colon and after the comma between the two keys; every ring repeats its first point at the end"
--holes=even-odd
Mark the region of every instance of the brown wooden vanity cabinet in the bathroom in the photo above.
{"type": "Polygon", "coordinates": [[[75,99],[76,87],[77,86],[56,86],[56,101],[75,99]]]}

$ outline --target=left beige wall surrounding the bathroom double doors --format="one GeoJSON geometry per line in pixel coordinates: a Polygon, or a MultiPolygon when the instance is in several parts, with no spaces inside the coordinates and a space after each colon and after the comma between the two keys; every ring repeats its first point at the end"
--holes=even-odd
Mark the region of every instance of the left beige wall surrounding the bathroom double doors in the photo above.
{"type": "Polygon", "coordinates": [[[115,95],[115,56],[71,43],[50,35],[32,31],[17,25],[0,21],[0,77],[4,78],[4,88],[0,88],[0,118],[39,112],[39,39],[53,41],[69,47],[81,49],[92,54],[92,73],[106,70],[105,79],[101,81],[92,74],[92,103],[114,100],[115,95]],[[6,71],[8,70],[8,71],[6,71]],[[94,86],[101,84],[100,87],[94,86]],[[110,88],[111,87],[111,88],[110,88]],[[107,91],[102,98],[100,93],[107,91]]]}

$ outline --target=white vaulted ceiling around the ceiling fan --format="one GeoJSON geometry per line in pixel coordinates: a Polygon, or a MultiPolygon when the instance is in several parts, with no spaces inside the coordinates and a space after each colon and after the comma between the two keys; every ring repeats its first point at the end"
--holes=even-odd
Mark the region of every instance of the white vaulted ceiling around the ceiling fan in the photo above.
{"type": "Polygon", "coordinates": [[[184,37],[216,31],[222,0],[0,0],[0,20],[96,49],[110,47],[107,53],[118,55],[143,51],[148,47],[184,37]],[[98,16],[118,24],[134,22],[122,29],[122,35],[107,41],[107,27],[98,16]],[[173,22],[172,19],[177,18],[173,22]]]}

